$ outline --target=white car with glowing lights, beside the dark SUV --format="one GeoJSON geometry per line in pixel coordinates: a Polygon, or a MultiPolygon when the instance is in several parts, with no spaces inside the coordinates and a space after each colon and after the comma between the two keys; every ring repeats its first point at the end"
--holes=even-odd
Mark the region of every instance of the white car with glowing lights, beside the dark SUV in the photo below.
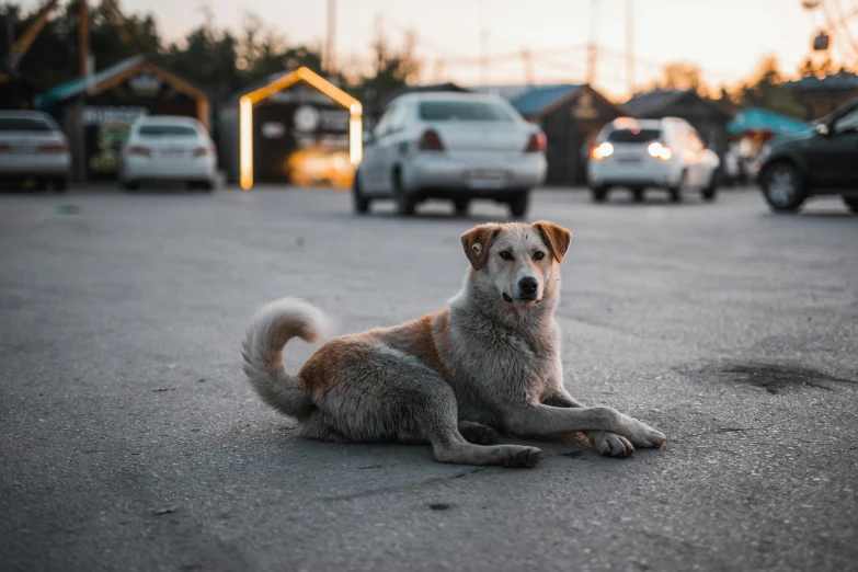
{"type": "Polygon", "coordinates": [[[620,117],[602,128],[591,150],[587,180],[593,199],[600,203],[614,186],[629,187],[643,201],[647,187],[665,188],[678,202],[695,190],[705,201],[718,193],[720,159],[685,119],[620,117]]]}

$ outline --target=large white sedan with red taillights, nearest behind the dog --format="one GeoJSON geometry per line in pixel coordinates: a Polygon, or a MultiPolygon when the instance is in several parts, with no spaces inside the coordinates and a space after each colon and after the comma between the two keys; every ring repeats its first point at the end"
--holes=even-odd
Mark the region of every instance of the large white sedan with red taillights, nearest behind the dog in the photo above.
{"type": "Polygon", "coordinates": [[[547,168],[539,126],[495,95],[402,95],[366,142],[354,178],[357,213],[393,198],[399,214],[412,215],[417,203],[444,198],[465,214],[471,199],[488,198],[522,217],[547,168]]]}

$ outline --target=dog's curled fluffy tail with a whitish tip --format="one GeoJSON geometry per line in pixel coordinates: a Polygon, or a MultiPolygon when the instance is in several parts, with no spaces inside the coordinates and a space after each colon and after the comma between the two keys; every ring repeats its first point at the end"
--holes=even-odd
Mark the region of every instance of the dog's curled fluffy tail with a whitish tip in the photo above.
{"type": "Polygon", "coordinates": [[[312,411],[298,377],[283,367],[283,347],[295,336],[318,341],[325,323],[321,310],[297,298],[274,300],[253,318],[241,352],[243,369],[262,400],[281,413],[302,417],[312,411]]]}

